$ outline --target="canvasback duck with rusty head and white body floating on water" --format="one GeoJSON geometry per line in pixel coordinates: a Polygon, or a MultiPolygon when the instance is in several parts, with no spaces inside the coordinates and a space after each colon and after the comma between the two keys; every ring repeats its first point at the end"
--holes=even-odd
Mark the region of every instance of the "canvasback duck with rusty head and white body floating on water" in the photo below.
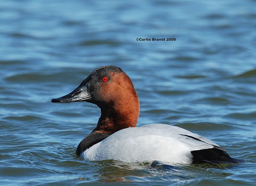
{"type": "Polygon", "coordinates": [[[71,93],[52,103],[86,101],[100,107],[98,125],[76,154],[85,160],[162,161],[173,164],[237,162],[218,144],[180,127],[136,127],[140,103],[130,77],[116,66],[95,69],[71,93]]]}

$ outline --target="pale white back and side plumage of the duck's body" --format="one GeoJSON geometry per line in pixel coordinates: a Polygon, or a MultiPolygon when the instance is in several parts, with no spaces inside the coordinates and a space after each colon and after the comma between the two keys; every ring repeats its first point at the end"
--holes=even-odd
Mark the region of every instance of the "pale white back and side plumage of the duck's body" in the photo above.
{"type": "Polygon", "coordinates": [[[163,162],[190,164],[192,150],[218,146],[211,140],[171,125],[151,124],[122,129],[85,150],[85,160],[121,162],[163,162]],[[194,137],[186,137],[188,135],[194,137]]]}

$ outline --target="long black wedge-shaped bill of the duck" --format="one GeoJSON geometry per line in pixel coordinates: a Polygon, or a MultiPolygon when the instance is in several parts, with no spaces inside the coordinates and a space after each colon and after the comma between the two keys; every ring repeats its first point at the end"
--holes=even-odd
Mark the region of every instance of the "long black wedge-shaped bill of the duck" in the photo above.
{"type": "Polygon", "coordinates": [[[59,98],[52,99],[52,103],[70,103],[76,101],[92,101],[92,96],[88,90],[89,83],[84,83],[84,81],[76,89],[67,95],[59,98]]]}

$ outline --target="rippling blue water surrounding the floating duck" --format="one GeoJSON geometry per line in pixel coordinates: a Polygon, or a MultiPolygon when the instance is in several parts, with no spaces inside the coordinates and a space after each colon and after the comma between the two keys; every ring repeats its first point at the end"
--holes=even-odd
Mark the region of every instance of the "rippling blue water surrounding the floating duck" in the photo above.
{"type": "Polygon", "coordinates": [[[0,185],[256,182],[256,1],[2,1],[0,185]],[[176,38],[176,41],[136,41],[176,38]],[[86,162],[89,103],[54,104],[95,68],[117,65],[140,98],[138,126],[188,129],[245,162],[86,162]]]}

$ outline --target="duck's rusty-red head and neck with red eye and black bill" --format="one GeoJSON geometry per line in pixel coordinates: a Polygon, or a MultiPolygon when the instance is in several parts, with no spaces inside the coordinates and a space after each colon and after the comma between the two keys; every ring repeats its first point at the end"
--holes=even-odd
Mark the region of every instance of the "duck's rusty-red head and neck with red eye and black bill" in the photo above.
{"type": "Polygon", "coordinates": [[[128,75],[119,67],[99,67],[74,91],[52,99],[52,103],[75,101],[87,101],[100,107],[101,117],[95,130],[118,131],[136,126],[140,107],[138,95],[128,75]]]}

